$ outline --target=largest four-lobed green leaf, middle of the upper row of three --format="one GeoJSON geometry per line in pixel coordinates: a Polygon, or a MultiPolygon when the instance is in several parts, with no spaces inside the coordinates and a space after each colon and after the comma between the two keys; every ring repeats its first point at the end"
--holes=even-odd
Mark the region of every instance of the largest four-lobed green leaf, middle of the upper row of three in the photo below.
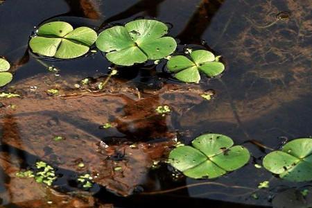
{"type": "Polygon", "coordinates": [[[130,21],[114,26],[98,35],[96,46],[107,53],[114,64],[132,66],[147,60],[159,60],[175,51],[177,43],[168,33],[166,24],[152,19],[130,21]]]}

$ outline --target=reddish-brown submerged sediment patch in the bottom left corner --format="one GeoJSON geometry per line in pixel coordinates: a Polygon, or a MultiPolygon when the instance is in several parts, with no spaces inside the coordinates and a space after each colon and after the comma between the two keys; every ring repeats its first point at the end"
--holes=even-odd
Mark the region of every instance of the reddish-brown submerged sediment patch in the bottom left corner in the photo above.
{"type": "Polygon", "coordinates": [[[16,173],[21,171],[17,157],[12,157],[8,153],[0,153],[0,164],[2,175],[6,174],[3,184],[6,192],[1,192],[0,197],[2,205],[17,206],[21,208],[28,207],[112,207],[105,205],[94,199],[89,193],[78,191],[72,194],[64,194],[47,187],[44,184],[35,182],[33,178],[17,177],[16,173]],[[31,187],[31,189],[30,189],[31,187]]]}

